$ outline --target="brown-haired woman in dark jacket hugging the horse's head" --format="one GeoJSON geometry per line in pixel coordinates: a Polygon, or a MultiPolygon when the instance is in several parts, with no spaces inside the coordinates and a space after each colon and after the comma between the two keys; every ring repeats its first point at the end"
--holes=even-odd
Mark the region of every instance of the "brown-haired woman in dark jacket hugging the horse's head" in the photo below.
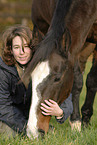
{"type": "MultiPolygon", "coordinates": [[[[16,25],[3,34],[0,57],[0,133],[5,136],[26,133],[31,102],[31,82],[28,89],[18,84],[33,57],[32,32],[28,27],[16,25]]],[[[59,107],[53,100],[42,103],[44,115],[54,115],[63,123],[73,111],[71,96],[59,107]]]]}

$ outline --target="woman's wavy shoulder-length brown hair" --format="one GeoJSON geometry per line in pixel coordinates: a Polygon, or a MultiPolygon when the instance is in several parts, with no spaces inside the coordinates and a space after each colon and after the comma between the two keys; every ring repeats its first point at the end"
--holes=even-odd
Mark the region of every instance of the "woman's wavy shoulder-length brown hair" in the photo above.
{"type": "Polygon", "coordinates": [[[12,54],[12,40],[14,37],[20,36],[27,41],[28,46],[32,49],[32,31],[23,25],[15,25],[8,28],[2,37],[2,59],[7,65],[15,65],[15,58],[12,54]]]}

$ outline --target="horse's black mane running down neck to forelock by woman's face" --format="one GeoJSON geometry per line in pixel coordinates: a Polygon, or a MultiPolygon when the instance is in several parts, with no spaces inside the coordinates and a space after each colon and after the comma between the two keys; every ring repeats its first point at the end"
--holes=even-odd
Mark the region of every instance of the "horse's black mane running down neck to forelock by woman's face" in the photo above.
{"type": "Polygon", "coordinates": [[[66,32],[65,17],[69,10],[72,0],[58,0],[49,30],[44,39],[36,47],[36,52],[33,59],[29,63],[22,81],[30,77],[31,72],[35,69],[39,62],[45,61],[49,58],[52,51],[58,47],[58,43],[62,39],[64,32],[66,32]]]}

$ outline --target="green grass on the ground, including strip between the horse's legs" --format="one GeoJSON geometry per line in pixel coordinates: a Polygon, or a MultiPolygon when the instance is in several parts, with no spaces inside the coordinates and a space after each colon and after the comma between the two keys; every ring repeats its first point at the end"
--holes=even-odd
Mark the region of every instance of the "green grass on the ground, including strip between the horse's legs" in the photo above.
{"type": "MultiPolygon", "coordinates": [[[[86,88],[85,81],[87,73],[91,67],[91,61],[87,62],[85,73],[84,73],[84,86],[80,95],[80,108],[84,102],[86,88]]],[[[49,131],[43,140],[34,139],[33,141],[27,137],[16,136],[14,139],[2,139],[0,137],[0,145],[97,145],[97,99],[94,102],[94,113],[91,118],[91,126],[82,130],[81,132],[71,131],[69,125],[69,119],[64,124],[56,122],[55,118],[52,117],[50,124],[54,125],[55,130],[49,131]]]]}

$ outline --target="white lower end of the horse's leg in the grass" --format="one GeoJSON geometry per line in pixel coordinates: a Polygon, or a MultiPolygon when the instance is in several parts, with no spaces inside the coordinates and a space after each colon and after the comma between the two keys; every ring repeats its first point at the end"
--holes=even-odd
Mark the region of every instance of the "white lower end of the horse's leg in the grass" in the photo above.
{"type": "Polygon", "coordinates": [[[81,131],[81,121],[77,120],[77,121],[70,121],[70,126],[72,130],[76,130],[76,131],[81,131]]]}

